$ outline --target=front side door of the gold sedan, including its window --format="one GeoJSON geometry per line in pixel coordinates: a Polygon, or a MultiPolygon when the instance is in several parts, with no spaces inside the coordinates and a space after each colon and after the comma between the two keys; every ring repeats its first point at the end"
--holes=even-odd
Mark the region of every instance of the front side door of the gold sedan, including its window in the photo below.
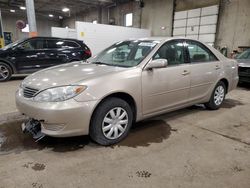
{"type": "Polygon", "coordinates": [[[153,59],[167,59],[166,68],[142,72],[143,114],[150,115],[184,105],[189,99],[190,65],[182,40],[166,42],[153,59]]]}

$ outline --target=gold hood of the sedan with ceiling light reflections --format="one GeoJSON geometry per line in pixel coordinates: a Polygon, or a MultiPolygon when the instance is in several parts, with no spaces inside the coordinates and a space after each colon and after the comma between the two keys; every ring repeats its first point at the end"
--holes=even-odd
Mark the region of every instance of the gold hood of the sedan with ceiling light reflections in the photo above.
{"type": "Polygon", "coordinates": [[[68,63],[33,73],[24,79],[22,85],[23,87],[42,90],[50,87],[76,84],[84,80],[101,77],[125,69],[123,67],[82,62],[68,63]]]}

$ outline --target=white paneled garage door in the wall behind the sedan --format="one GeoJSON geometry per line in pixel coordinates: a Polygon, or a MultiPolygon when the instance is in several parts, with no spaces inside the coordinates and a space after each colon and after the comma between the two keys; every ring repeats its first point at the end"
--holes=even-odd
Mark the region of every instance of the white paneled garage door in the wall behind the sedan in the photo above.
{"type": "Polygon", "coordinates": [[[175,12],[173,36],[188,37],[214,45],[219,6],[175,12]]]}

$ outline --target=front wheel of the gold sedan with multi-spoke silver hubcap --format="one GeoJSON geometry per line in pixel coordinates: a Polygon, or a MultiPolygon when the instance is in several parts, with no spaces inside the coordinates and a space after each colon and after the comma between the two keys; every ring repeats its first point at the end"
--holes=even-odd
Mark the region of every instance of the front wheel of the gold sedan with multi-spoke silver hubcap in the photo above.
{"type": "Polygon", "coordinates": [[[108,98],[97,107],[92,116],[90,137],[103,146],[116,144],[126,138],[132,121],[132,109],[126,101],[108,98]]]}

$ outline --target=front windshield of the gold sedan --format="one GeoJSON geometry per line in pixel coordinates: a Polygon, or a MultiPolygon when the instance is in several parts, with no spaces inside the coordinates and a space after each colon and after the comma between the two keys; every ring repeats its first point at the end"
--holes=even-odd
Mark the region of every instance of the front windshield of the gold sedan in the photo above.
{"type": "Polygon", "coordinates": [[[133,67],[138,65],[159,43],[158,41],[123,41],[114,44],[89,60],[90,63],[133,67]]]}

